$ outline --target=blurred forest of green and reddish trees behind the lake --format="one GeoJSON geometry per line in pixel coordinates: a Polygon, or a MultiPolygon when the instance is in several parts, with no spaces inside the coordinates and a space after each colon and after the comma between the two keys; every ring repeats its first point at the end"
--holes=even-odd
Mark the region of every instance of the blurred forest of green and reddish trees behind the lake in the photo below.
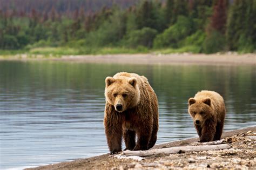
{"type": "Polygon", "coordinates": [[[255,16],[256,0],[0,0],[0,51],[255,52],[255,16]]]}

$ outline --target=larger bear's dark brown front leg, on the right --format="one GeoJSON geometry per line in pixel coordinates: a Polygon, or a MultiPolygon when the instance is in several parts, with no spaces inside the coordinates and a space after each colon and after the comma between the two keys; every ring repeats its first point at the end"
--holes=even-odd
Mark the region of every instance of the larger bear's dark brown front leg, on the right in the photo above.
{"type": "MultiPolygon", "coordinates": [[[[147,129],[147,128],[145,127],[145,129],[147,129]]],[[[145,130],[140,130],[140,131],[137,131],[137,135],[138,135],[138,141],[136,143],[136,146],[133,148],[133,151],[149,149],[148,145],[149,145],[151,132],[145,131],[145,130]]]]}

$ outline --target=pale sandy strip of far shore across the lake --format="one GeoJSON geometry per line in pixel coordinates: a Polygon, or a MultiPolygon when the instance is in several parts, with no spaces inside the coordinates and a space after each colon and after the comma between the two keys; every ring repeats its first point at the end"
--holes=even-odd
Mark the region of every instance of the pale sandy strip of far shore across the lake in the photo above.
{"type": "Polygon", "coordinates": [[[119,55],[82,55],[44,57],[42,55],[15,55],[0,56],[1,60],[15,61],[63,61],[79,63],[105,63],[105,64],[192,64],[192,65],[256,65],[256,53],[238,55],[237,53],[215,53],[211,55],[192,53],[173,54],[119,54],[119,55]]]}

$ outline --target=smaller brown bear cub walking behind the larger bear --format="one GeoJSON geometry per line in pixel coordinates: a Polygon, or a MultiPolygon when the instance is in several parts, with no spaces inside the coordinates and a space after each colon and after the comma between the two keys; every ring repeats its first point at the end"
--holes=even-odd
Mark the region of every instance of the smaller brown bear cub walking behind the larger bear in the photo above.
{"type": "Polygon", "coordinates": [[[226,114],[223,97],[219,93],[203,90],[188,99],[188,112],[200,142],[220,140],[226,114]]]}

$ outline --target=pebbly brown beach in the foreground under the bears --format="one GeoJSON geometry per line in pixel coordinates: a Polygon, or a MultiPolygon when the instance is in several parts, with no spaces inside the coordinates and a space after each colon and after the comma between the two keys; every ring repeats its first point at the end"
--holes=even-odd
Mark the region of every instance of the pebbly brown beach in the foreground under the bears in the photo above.
{"type": "MultiPolygon", "coordinates": [[[[223,142],[230,148],[200,152],[180,152],[157,154],[143,160],[118,159],[109,154],[70,162],[60,162],[30,169],[206,169],[206,168],[256,168],[256,126],[224,132],[223,142]]],[[[198,138],[173,141],[154,146],[169,148],[174,146],[198,145],[198,138]]]]}

